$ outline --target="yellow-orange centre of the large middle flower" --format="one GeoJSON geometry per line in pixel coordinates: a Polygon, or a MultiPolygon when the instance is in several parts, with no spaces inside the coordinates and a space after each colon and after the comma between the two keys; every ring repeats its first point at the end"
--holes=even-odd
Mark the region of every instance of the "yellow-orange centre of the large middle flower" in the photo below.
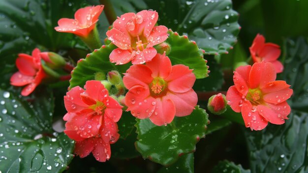
{"type": "Polygon", "coordinates": [[[167,82],[164,79],[155,77],[149,85],[152,97],[157,98],[167,94],[167,82]]]}

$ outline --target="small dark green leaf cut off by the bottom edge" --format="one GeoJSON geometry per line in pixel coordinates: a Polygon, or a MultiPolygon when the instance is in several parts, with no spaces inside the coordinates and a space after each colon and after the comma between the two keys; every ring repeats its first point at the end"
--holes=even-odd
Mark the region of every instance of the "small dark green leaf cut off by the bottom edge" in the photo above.
{"type": "Polygon", "coordinates": [[[224,160],[214,167],[212,173],[250,173],[250,170],[244,170],[241,165],[224,160]]]}

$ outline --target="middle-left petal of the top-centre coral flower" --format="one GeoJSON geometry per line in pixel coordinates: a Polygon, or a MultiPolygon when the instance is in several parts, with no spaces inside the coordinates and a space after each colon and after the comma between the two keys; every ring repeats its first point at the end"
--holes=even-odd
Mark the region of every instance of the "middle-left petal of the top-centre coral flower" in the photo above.
{"type": "Polygon", "coordinates": [[[131,47],[130,37],[128,35],[123,34],[123,32],[121,32],[120,30],[113,28],[107,31],[106,35],[108,36],[108,39],[112,43],[114,43],[121,49],[129,49],[131,47]]]}

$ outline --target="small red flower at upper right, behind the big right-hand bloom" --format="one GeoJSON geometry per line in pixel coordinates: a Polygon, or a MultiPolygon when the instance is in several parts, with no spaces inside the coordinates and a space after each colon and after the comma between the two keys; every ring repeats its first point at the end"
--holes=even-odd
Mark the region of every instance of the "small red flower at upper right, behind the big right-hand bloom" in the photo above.
{"type": "Polygon", "coordinates": [[[254,38],[249,50],[254,63],[270,62],[274,65],[277,73],[283,71],[282,64],[277,60],[281,53],[280,47],[274,43],[265,43],[263,35],[258,34],[254,38]]]}

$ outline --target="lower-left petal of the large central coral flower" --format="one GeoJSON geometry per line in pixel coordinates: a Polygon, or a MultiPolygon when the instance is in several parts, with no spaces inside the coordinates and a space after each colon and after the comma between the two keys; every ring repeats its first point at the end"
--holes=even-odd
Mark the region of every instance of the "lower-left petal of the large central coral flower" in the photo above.
{"type": "Polygon", "coordinates": [[[125,104],[128,107],[126,111],[130,110],[133,116],[144,119],[153,114],[156,101],[150,96],[148,86],[136,85],[127,92],[125,104]]]}

